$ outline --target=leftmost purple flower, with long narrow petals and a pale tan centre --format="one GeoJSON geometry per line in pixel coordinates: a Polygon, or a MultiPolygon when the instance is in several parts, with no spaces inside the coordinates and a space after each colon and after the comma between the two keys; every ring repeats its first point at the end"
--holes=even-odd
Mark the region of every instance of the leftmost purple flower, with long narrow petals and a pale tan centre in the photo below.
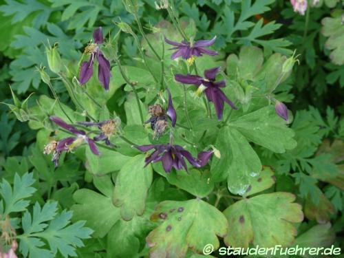
{"type": "Polygon", "coordinates": [[[65,121],[61,118],[56,116],[50,116],[50,120],[56,123],[59,127],[66,129],[67,131],[73,133],[76,137],[68,137],[62,140],[56,141],[53,140],[49,144],[45,145],[44,147],[44,154],[52,154],[52,161],[54,162],[55,166],[58,166],[58,160],[60,159],[60,155],[63,151],[72,151],[80,146],[84,141],[87,142],[89,145],[89,149],[91,149],[92,153],[95,155],[99,155],[100,152],[96,147],[94,141],[86,135],[85,131],[81,131],[76,129],[76,127],[72,125],[68,125],[65,121]]]}

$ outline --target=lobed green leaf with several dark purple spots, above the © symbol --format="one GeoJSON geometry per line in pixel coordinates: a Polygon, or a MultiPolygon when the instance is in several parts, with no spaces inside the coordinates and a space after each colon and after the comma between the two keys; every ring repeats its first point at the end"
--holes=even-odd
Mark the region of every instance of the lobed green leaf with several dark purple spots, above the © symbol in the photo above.
{"type": "Polygon", "coordinates": [[[226,217],[200,199],[161,202],[151,220],[162,222],[146,239],[151,258],[185,257],[189,248],[202,253],[206,244],[213,244],[216,250],[217,237],[224,237],[228,230],[226,217]],[[169,213],[172,209],[175,210],[169,213]],[[168,217],[161,219],[160,213],[168,213],[168,217]]]}

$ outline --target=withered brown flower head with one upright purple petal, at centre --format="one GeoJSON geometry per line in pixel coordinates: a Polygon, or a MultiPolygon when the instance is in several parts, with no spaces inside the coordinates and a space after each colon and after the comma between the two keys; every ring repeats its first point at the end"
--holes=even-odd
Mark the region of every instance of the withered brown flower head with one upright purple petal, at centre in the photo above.
{"type": "Polygon", "coordinates": [[[175,127],[177,122],[177,113],[173,107],[172,96],[169,89],[166,89],[169,94],[169,106],[167,112],[159,104],[149,106],[149,114],[151,117],[145,123],[151,124],[151,129],[154,130],[154,138],[160,137],[167,127],[167,118],[171,118],[172,127],[175,127]]]}

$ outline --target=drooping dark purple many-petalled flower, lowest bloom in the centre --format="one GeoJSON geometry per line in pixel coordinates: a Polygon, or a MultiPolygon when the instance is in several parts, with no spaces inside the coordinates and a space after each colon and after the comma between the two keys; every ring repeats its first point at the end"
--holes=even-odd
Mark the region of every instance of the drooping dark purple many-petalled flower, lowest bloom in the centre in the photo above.
{"type": "Polygon", "coordinates": [[[151,162],[162,162],[162,166],[164,167],[164,171],[169,173],[174,167],[177,170],[184,168],[187,171],[187,166],[184,158],[190,162],[195,167],[200,167],[200,164],[193,158],[189,151],[186,151],[180,145],[173,145],[173,144],[149,144],[149,145],[142,145],[136,146],[137,149],[143,152],[150,151],[151,149],[155,149],[147,158],[144,160],[147,164],[151,162]]]}

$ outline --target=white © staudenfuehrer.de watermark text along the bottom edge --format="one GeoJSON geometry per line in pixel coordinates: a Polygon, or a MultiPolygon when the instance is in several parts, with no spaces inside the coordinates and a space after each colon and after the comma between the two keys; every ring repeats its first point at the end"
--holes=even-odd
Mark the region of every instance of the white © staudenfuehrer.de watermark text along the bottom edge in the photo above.
{"type": "MultiPolygon", "coordinates": [[[[212,244],[206,244],[203,248],[204,255],[210,255],[214,251],[212,244]]],[[[252,248],[240,248],[240,247],[220,247],[219,255],[341,255],[341,248],[334,247],[295,247],[283,248],[281,245],[277,245],[270,248],[264,248],[255,246],[252,248]]]]}

